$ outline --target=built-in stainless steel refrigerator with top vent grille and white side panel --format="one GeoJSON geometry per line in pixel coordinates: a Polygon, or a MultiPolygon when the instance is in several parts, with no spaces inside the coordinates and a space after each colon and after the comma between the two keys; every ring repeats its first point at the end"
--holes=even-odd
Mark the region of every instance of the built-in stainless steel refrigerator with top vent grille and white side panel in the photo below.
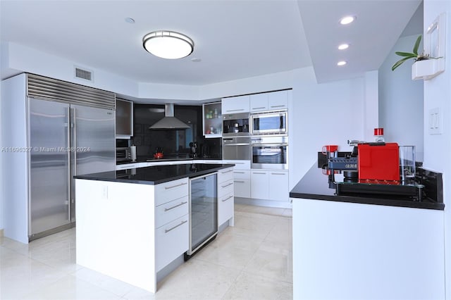
{"type": "Polygon", "coordinates": [[[29,242],[73,227],[73,176],[116,167],[114,94],[23,74],[4,82],[2,96],[12,130],[4,136],[12,147],[4,153],[5,236],[29,242]]]}

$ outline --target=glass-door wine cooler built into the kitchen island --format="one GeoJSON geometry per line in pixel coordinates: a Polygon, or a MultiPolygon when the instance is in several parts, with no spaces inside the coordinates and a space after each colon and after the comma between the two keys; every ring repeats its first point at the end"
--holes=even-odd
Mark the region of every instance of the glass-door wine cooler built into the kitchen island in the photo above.
{"type": "Polygon", "coordinates": [[[218,235],[218,173],[190,179],[190,249],[185,261],[218,235]]]}

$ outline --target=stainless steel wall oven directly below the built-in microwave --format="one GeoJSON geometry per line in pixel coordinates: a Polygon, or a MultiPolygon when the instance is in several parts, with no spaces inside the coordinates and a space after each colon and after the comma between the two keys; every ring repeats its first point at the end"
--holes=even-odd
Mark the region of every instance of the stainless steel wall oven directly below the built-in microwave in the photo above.
{"type": "Polygon", "coordinates": [[[288,137],[252,137],[252,169],[288,169],[288,137]]]}

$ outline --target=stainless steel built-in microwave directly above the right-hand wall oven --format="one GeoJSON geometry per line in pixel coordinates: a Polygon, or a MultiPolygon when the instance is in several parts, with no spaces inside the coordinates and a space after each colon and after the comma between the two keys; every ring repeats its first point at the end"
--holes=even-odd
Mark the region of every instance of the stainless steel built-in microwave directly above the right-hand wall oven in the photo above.
{"type": "Polygon", "coordinates": [[[252,135],[288,135],[288,111],[252,113],[252,135]]]}

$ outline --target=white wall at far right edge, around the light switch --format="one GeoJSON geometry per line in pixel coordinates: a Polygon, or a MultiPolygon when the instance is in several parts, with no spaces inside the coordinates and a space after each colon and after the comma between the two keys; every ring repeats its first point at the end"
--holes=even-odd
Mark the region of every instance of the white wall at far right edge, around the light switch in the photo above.
{"type": "Polygon", "coordinates": [[[446,13],[445,72],[432,80],[424,80],[424,120],[428,120],[431,108],[442,109],[442,135],[429,135],[424,126],[424,166],[443,173],[443,197],[445,201],[445,274],[447,299],[451,299],[451,1],[424,0],[424,29],[433,23],[440,13],[446,13]],[[444,155],[445,154],[445,155],[444,155]]]}

